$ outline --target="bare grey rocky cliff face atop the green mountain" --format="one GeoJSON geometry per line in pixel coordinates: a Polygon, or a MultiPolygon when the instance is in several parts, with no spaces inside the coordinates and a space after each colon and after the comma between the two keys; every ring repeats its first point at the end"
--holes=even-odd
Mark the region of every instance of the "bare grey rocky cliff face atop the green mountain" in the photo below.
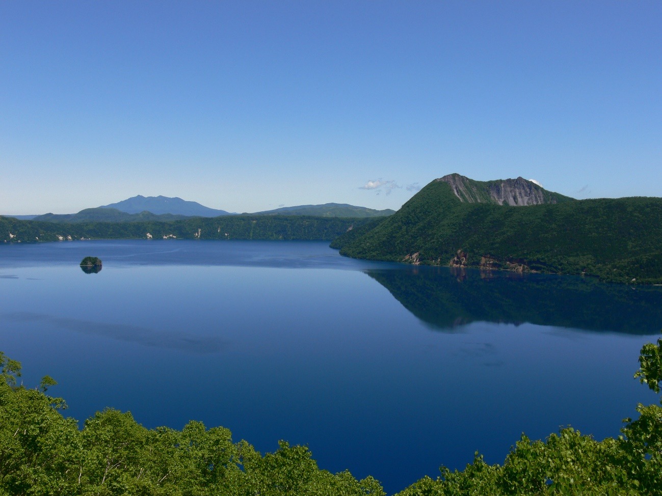
{"type": "Polygon", "coordinates": [[[527,206],[570,200],[562,194],[547,191],[523,177],[473,181],[459,174],[449,174],[437,181],[448,183],[455,196],[468,203],[496,203],[498,205],[527,206]]]}

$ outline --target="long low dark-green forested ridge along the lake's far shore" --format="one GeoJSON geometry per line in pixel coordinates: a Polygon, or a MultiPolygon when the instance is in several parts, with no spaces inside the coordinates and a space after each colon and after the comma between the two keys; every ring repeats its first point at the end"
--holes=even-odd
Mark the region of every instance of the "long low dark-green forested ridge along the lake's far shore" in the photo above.
{"type": "Polygon", "coordinates": [[[369,218],[307,216],[194,217],[171,222],[58,223],[0,217],[0,243],[75,239],[318,239],[331,240],[369,218]],[[149,233],[149,236],[148,236],[149,233]]]}

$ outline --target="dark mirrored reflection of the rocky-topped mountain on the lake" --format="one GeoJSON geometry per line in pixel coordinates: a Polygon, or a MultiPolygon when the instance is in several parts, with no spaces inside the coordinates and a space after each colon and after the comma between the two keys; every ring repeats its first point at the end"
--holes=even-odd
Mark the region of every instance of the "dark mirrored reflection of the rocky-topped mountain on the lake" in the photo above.
{"type": "Polygon", "coordinates": [[[662,328],[662,288],[591,278],[412,267],[365,270],[418,319],[457,331],[474,321],[533,323],[637,335],[662,328]]]}

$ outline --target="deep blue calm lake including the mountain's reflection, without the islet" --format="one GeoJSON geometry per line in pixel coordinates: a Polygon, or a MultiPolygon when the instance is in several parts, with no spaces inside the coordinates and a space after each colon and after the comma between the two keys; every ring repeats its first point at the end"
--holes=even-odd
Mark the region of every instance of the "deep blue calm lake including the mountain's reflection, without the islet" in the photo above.
{"type": "Polygon", "coordinates": [[[0,246],[0,351],[66,415],[228,427],[388,493],[520,434],[617,436],[662,288],[357,261],[310,241],[0,246]],[[98,274],[78,267],[103,260],[98,274]]]}

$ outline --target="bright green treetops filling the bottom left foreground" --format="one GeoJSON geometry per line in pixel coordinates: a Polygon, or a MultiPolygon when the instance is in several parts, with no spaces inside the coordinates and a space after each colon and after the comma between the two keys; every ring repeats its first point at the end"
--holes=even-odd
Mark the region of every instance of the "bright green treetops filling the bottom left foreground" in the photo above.
{"type": "Polygon", "coordinates": [[[189,422],[145,429],[130,413],[98,412],[78,429],[62,398],[17,386],[21,364],[0,353],[0,495],[383,496],[372,477],[319,470],[305,446],[261,456],[228,429],[189,422]]]}

